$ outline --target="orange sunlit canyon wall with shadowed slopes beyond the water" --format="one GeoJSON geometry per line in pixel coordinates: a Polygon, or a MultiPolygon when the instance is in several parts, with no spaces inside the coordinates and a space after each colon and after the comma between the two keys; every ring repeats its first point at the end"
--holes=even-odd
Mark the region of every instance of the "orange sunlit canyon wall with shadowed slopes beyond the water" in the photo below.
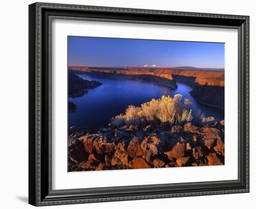
{"type": "Polygon", "coordinates": [[[198,102],[224,109],[224,72],[160,68],[96,68],[69,66],[69,70],[103,78],[128,78],[177,88],[176,82],[189,85],[198,102]]]}

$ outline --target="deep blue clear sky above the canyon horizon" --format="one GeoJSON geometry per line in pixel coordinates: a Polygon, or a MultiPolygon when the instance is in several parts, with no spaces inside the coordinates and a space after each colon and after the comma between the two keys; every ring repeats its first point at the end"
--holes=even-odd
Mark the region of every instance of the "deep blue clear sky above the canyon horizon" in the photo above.
{"type": "Polygon", "coordinates": [[[68,36],[68,65],[224,68],[224,44],[68,36]]]}

